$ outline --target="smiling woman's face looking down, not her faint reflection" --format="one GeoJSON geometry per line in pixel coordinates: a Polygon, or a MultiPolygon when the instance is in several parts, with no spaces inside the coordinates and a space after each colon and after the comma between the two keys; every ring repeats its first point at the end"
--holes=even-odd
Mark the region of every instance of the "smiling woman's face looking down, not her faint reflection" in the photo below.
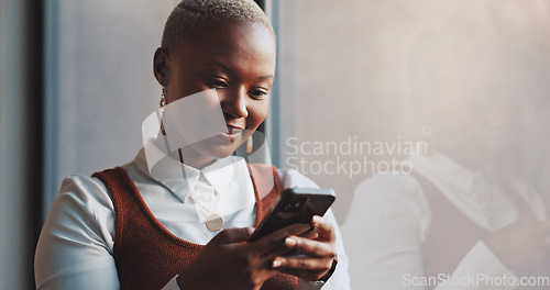
{"type": "MultiPolygon", "coordinates": [[[[168,107],[190,94],[216,89],[218,98],[213,103],[209,101],[209,105],[221,108],[223,114],[223,129],[219,125],[208,129],[213,127],[216,136],[184,148],[185,163],[200,167],[229,156],[265,120],[275,58],[275,41],[270,30],[249,22],[211,25],[184,41],[174,52],[157,51],[155,76],[166,89],[168,107]]],[[[213,122],[208,119],[206,123],[213,122]]],[[[202,130],[198,126],[186,134],[200,134],[202,130]]]]}

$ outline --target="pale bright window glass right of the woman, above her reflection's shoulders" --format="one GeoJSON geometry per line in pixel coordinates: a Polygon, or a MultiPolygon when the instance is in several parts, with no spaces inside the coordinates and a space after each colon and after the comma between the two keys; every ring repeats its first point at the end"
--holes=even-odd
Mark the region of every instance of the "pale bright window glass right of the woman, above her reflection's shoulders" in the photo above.
{"type": "Polygon", "coordinates": [[[548,188],[548,3],[276,3],[280,164],[338,189],[342,221],[356,186],[428,130],[463,166],[497,159],[548,188]]]}

